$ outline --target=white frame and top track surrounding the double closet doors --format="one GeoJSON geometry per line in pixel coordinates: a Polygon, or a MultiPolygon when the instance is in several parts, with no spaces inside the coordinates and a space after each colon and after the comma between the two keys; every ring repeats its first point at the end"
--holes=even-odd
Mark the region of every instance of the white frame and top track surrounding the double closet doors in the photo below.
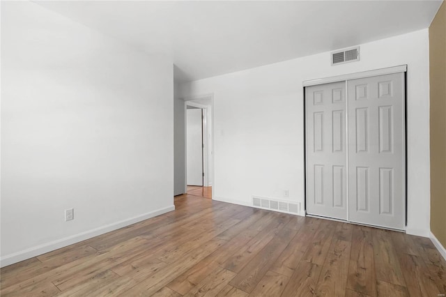
{"type": "MultiPolygon", "coordinates": [[[[403,196],[404,196],[404,206],[406,207],[406,216],[405,216],[405,224],[407,225],[407,103],[406,103],[406,73],[407,73],[407,64],[404,65],[400,65],[400,66],[394,66],[394,67],[388,67],[388,68],[380,68],[380,69],[375,69],[375,70],[367,70],[367,71],[362,71],[359,73],[348,73],[345,75],[337,75],[337,76],[333,76],[333,77],[323,77],[323,78],[319,78],[319,79],[310,79],[310,80],[305,80],[302,82],[302,89],[303,89],[303,104],[304,104],[304,191],[305,191],[305,199],[304,199],[304,214],[308,215],[308,216],[315,216],[317,218],[326,218],[328,220],[336,220],[336,221],[340,221],[340,222],[351,222],[350,218],[349,218],[349,213],[348,213],[348,208],[349,208],[349,193],[348,193],[348,187],[346,189],[346,204],[347,204],[347,217],[346,220],[339,220],[336,218],[328,218],[328,217],[323,217],[320,215],[309,215],[307,214],[307,199],[308,199],[308,189],[307,189],[307,93],[306,93],[306,87],[307,86],[316,86],[318,84],[329,84],[332,82],[345,82],[346,84],[346,109],[347,109],[347,105],[348,105],[348,92],[347,92],[347,87],[348,84],[347,82],[349,80],[352,79],[360,79],[360,78],[366,78],[366,77],[374,77],[374,76],[380,76],[380,75],[390,75],[390,74],[394,74],[394,73],[402,73],[403,74],[403,100],[404,100],[404,105],[403,105],[403,176],[404,176],[404,188],[403,188],[403,196]]],[[[346,142],[348,143],[348,119],[347,119],[348,113],[346,112],[346,142]]],[[[348,154],[348,146],[346,146],[346,153],[348,154]]],[[[346,164],[346,174],[348,176],[348,158],[347,158],[347,164],[346,164]]],[[[353,224],[360,224],[357,222],[351,222],[353,224]]],[[[367,224],[365,224],[367,225],[367,224]]],[[[384,229],[392,229],[392,228],[385,228],[385,227],[379,227],[379,226],[374,226],[374,227],[378,227],[378,228],[384,228],[384,229]]],[[[393,230],[393,229],[392,229],[393,230]]],[[[400,229],[396,229],[396,231],[405,231],[405,230],[400,230],[400,229]]]]}

